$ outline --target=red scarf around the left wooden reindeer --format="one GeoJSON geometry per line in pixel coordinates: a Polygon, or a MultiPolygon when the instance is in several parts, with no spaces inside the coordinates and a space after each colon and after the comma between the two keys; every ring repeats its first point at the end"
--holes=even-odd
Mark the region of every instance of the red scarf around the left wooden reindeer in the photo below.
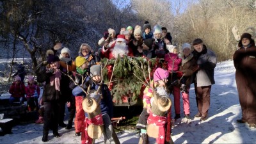
{"type": "Polygon", "coordinates": [[[97,115],[94,118],[85,118],[84,125],[82,125],[81,131],[81,144],[92,144],[92,138],[88,136],[87,128],[89,125],[104,125],[102,115],[97,115]],[[85,127],[84,127],[85,126],[85,127]]]}

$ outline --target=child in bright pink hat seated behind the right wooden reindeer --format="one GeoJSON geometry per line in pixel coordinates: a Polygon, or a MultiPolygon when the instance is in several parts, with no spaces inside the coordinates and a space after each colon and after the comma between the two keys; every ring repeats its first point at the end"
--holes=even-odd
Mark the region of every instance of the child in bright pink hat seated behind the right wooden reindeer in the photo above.
{"type": "MultiPolygon", "coordinates": [[[[169,72],[167,70],[163,70],[162,68],[157,68],[154,72],[154,81],[151,82],[151,86],[157,88],[164,87],[165,83],[168,81],[169,72]]],[[[141,112],[140,118],[138,120],[138,124],[136,125],[137,129],[140,129],[140,135],[143,140],[143,143],[148,143],[148,135],[147,135],[147,120],[148,116],[151,113],[151,100],[154,97],[154,93],[152,87],[146,87],[143,92],[143,111],[141,112]]]]}

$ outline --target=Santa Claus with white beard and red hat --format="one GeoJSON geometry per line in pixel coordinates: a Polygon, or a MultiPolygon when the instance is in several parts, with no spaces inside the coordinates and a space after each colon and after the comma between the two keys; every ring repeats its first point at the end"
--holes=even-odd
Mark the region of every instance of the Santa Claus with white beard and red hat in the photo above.
{"type": "Polygon", "coordinates": [[[116,42],[108,47],[108,45],[104,45],[102,49],[102,54],[106,58],[118,58],[118,55],[123,56],[133,56],[131,49],[126,45],[125,35],[118,35],[116,38],[116,42]]]}

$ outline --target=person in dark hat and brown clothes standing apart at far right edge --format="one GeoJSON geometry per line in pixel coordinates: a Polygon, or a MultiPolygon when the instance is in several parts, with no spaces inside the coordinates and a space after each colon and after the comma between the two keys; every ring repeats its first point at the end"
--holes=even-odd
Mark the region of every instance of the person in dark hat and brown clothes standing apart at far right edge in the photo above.
{"type": "Polygon", "coordinates": [[[242,118],[237,122],[256,128],[256,47],[252,35],[244,33],[238,47],[233,59],[242,118]]]}

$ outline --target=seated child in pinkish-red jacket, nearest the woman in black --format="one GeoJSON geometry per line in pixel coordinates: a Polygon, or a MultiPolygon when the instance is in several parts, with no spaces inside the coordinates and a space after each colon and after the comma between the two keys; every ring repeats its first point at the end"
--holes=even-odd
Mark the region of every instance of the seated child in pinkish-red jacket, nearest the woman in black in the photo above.
{"type": "Polygon", "coordinates": [[[28,111],[36,108],[39,110],[38,98],[40,96],[40,88],[34,81],[33,76],[28,76],[28,86],[26,86],[26,98],[28,104],[28,111]]]}

